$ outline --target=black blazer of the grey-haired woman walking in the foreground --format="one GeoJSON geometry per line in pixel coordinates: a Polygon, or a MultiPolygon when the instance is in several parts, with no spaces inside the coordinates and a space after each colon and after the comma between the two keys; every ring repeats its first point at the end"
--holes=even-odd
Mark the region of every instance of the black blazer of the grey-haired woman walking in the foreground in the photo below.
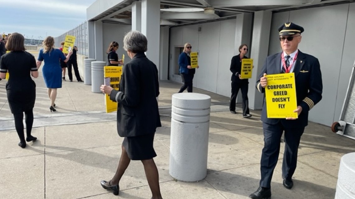
{"type": "Polygon", "coordinates": [[[137,53],[123,67],[119,91],[110,93],[110,99],[118,102],[117,131],[121,137],[154,133],[162,126],[158,95],[157,66],[144,53],[137,53]]]}

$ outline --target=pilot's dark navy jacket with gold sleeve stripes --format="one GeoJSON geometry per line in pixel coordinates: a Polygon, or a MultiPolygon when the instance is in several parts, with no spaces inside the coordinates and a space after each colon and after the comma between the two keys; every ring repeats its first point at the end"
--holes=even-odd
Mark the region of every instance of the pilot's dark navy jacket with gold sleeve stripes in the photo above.
{"type": "MultiPolygon", "coordinates": [[[[308,111],[322,99],[322,74],[317,58],[298,51],[298,56],[293,72],[295,73],[297,106],[302,107],[302,112],[296,120],[281,119],[285,126],[305,127],[308,124],[308,111]]],[[[264,93],[261,120],[267,124],[277,124],[280,119],[268,119],[265,101],[265,89],[260,85],[263,74],[281,73],[281,53],[268,56],[256,82],[256,88],[264,93]]]]}

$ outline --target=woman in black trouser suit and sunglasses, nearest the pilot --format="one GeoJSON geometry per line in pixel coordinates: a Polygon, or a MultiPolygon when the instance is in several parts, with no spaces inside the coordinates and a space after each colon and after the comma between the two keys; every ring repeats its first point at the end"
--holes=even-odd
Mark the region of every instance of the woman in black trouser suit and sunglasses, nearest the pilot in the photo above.
{"type": "Polygon", "coordinates": [[[232,57],[232,61],[230,62],[230,71],[232,72],[232,95],[230,97],[229,110],[231,113],[236,114],[235,112],[235,101],[237,99],[237,95],[239,89],[242,92],[243,98],[243,117],[250,118],[251,114],[249,113],[249,100],[248,100],[248,79],[241,78],[241,69],[242,69],[242,59],[247,59],[245,54],[248,52],[248,46],[246,44],[242,44],[239,46],[239,54],[232,57]]]}

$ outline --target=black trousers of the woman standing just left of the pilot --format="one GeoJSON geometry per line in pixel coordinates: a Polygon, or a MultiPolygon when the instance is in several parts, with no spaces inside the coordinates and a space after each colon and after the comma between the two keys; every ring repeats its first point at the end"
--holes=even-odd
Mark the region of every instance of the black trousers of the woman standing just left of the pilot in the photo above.
{"type": "Polygon", "coordinates": [[[243,115],[249,114],[249,99],[248,99],[248,83],[240,83],[237,81],[232,81],[232,95],[230,97],[229,110],[235,111],[235,101],[237,99],[237,95],[239,89],[242,92],[243,99],[243,115]]]}

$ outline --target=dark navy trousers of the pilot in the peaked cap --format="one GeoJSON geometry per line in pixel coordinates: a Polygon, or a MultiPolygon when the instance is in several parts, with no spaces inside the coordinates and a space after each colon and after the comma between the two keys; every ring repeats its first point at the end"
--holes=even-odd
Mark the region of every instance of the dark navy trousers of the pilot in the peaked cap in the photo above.
{"type": "Polygon", "coordinates": [[[280,139],[285,131],[285,151],[282,161],[282,177],[291,180],[297,166],[297,153],[301,136],[305,127],[284,126],[282,120],[278,124],[263,123],[264,148],[262,150],[260,171],[261,187],[270,187],[271,178],[280,152],[280,139]]]}

